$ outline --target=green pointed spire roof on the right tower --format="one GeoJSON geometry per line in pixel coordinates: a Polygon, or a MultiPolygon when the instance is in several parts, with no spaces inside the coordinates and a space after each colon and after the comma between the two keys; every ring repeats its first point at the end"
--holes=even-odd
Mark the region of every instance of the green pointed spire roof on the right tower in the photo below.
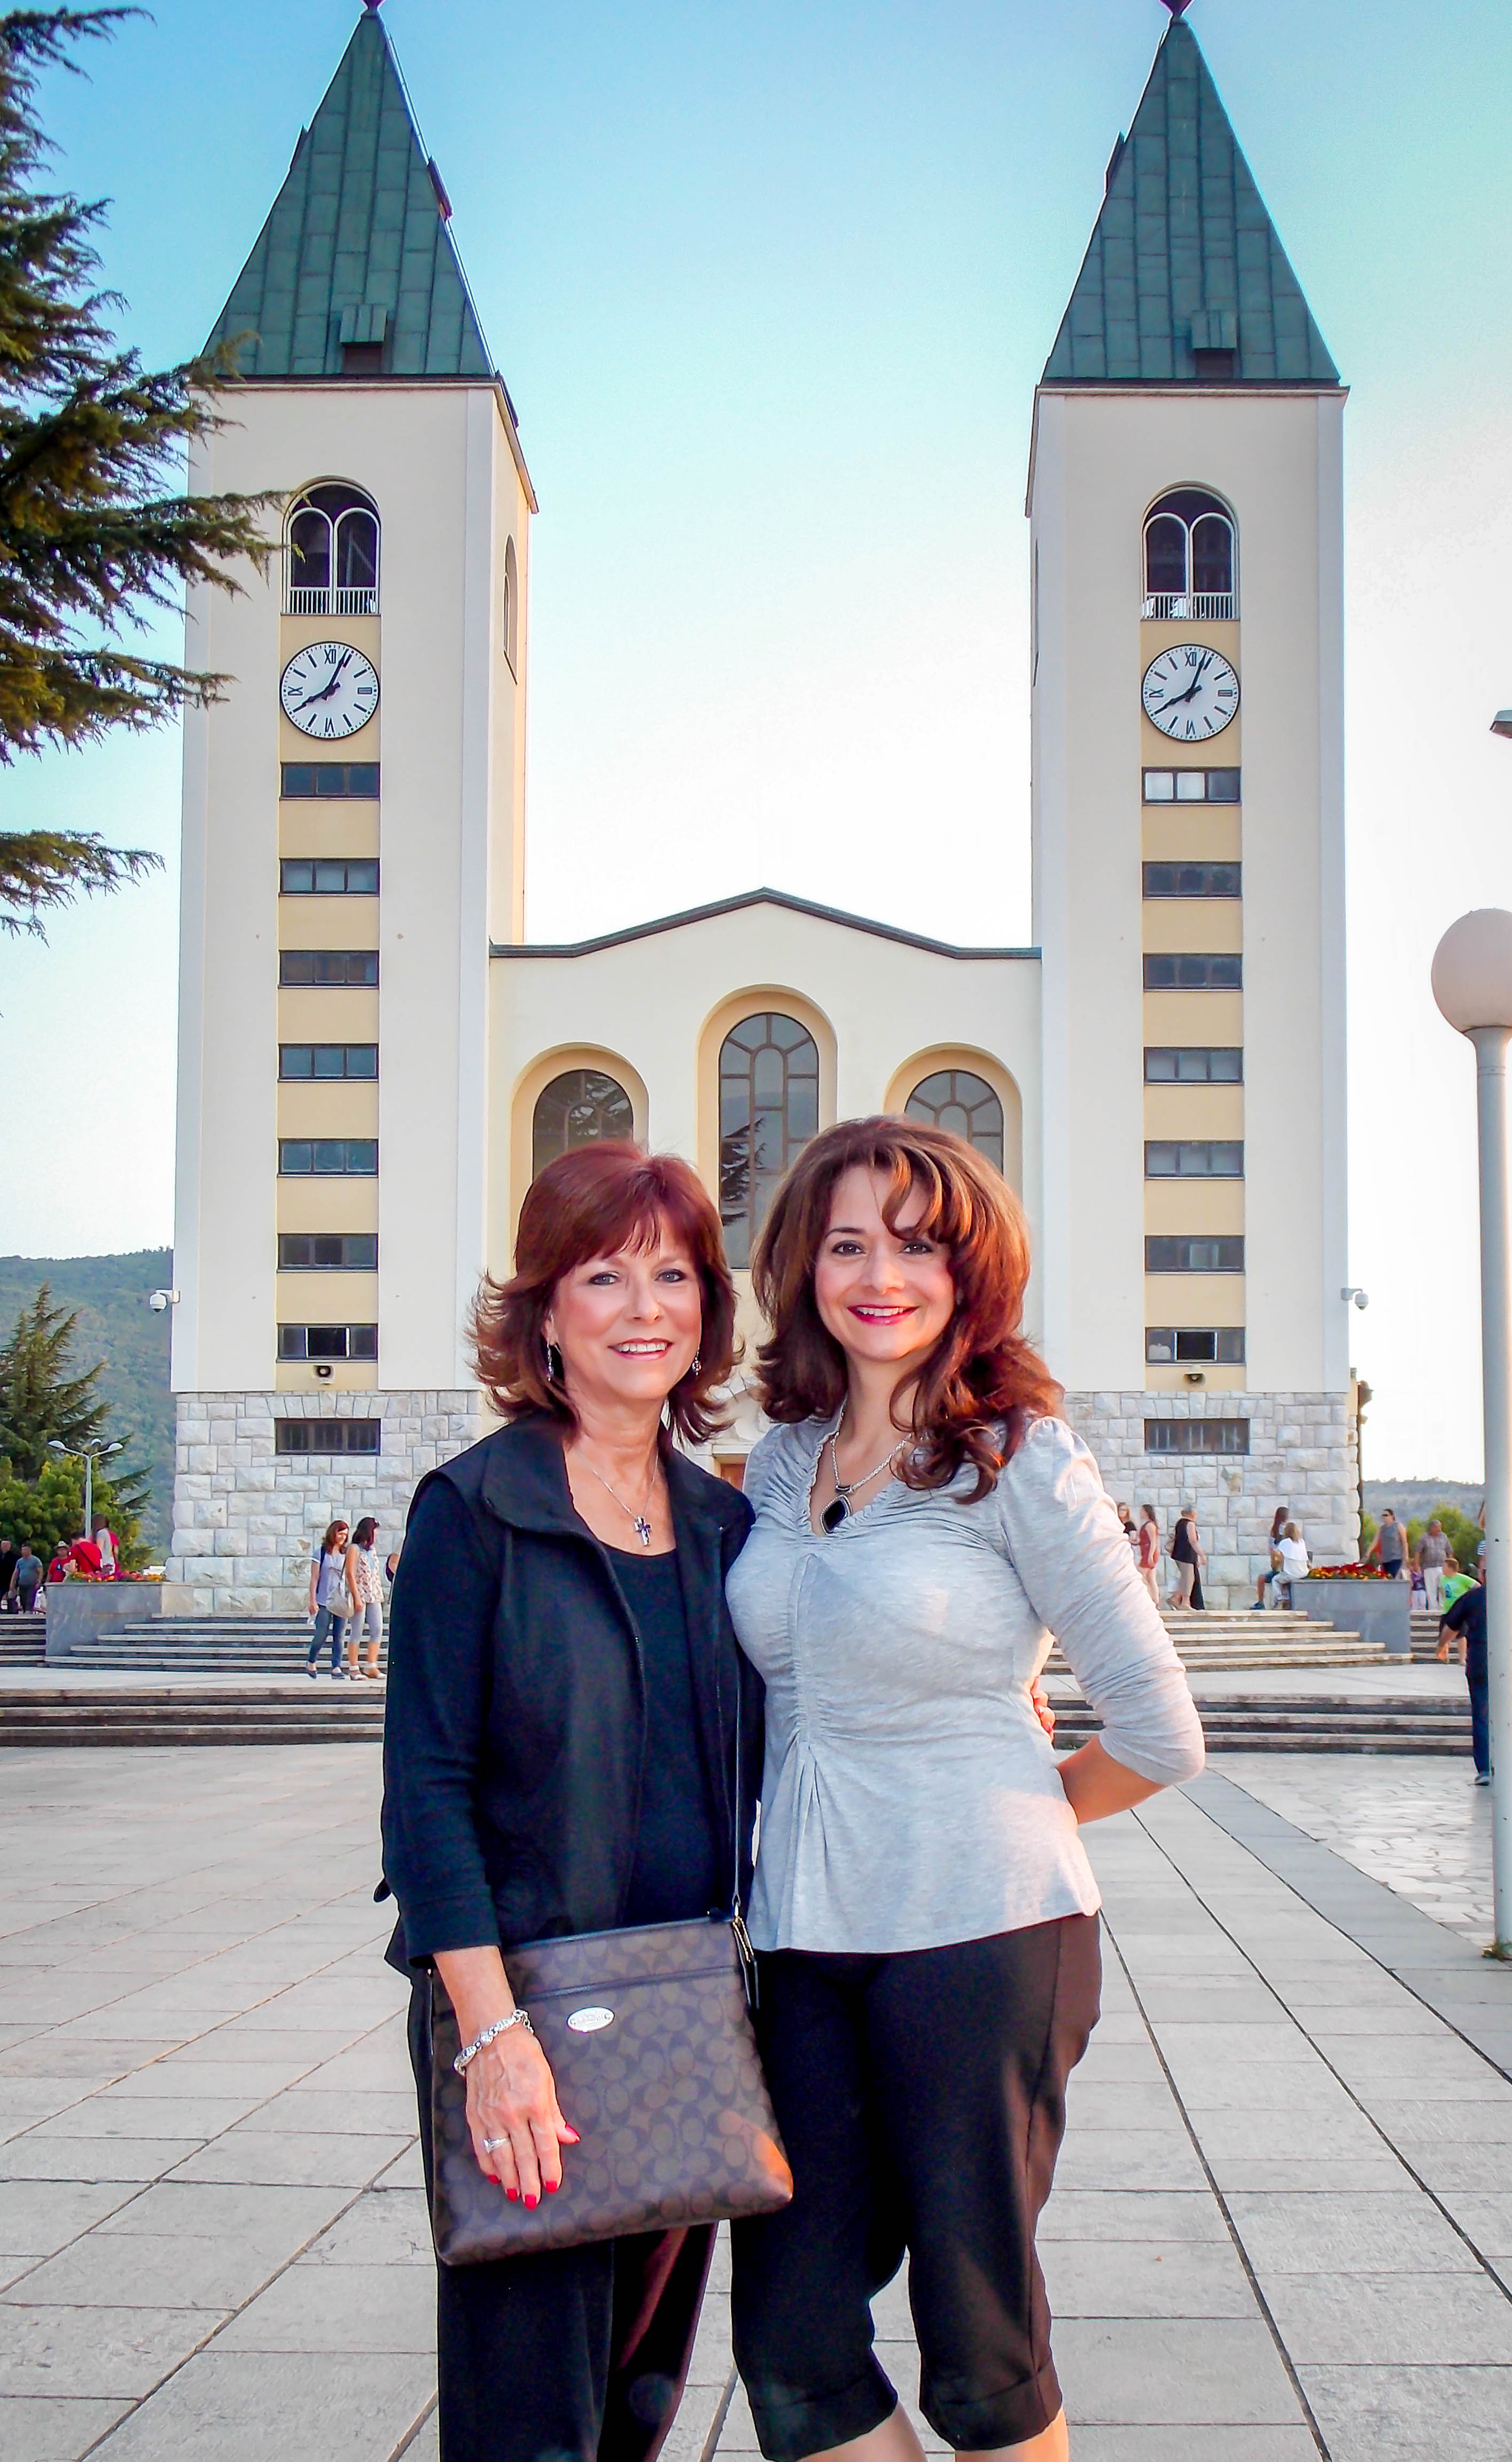
{"type": "Polygon", "coordinates": [[[1044,384],[1337,384],[1197,37],[1172,17],[1044,384]]]}

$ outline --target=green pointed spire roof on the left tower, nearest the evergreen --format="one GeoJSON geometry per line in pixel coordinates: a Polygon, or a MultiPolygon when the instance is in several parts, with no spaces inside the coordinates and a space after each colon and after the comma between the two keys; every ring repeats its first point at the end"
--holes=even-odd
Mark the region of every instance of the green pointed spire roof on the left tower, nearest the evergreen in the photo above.
{"type": "Polygon", "coordinates": [[[448,217],[399,62],[364,7],[209,347],[254,335],[244,377],[490,377],[448,217]]]}

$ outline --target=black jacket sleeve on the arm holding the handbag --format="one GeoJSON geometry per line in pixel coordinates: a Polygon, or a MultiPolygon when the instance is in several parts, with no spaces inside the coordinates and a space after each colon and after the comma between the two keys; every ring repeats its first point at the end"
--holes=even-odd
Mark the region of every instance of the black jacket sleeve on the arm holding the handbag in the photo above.
{"type": "Polygon", "coordinates": [[[478,1839],[500,1566],[451,1480],[414,1507],[389,1608],[384,1876],[411,1962],[497,1945],[478,1839]]]}

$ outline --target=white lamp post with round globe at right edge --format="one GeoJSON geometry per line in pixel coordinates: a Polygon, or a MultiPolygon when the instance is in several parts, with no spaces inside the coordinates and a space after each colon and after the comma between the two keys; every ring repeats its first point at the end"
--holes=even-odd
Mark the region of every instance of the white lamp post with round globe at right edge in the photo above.
{"type": "Polygon", "coordinates": [[[1512,1246],[1507,1224],[1507,1044],[1512,916],[1450,923],[1433,950],[1433,1000],[1475,1044],[1480,1125],[1480,1359],[1485,1386],[1485,1667],[1492,1765],[1492,1957],[1512,1957],[1512,1246]]]}

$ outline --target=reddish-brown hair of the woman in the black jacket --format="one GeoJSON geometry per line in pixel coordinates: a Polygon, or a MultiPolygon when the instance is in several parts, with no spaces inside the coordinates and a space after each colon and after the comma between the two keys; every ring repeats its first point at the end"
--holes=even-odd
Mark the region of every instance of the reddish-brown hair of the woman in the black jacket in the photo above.
{"type": "Polygon", "coordinates": [[[564,1273],[593,1256],[650,1248],[667,1231],[687,1248],[704,1295],[699,1369],[667,1396],[672,1428],[702,1445],[724,1425],[714,1401],[734,1366],[734,1283],[724,1263],[719,1214],[704,1182],[680,1155],[648,1155],[640,1145],[603,1140],[574,1145],[529,1184],[515,1236],[507,1283],[483,1275],[468,1332],[478,1381],[500,1418],[549,1411],[564,1428],[576,1413],[561,1384],[547,1376],[547,1315],[564,1273]]]}

